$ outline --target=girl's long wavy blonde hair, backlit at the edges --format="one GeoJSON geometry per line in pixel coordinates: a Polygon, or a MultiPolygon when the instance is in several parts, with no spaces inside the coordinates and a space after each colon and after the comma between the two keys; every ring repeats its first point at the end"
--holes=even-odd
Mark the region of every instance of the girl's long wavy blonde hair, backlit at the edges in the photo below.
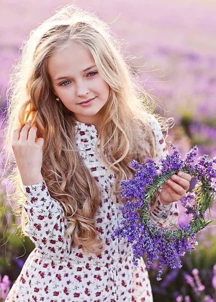
{"type": "Polygon", "coordinates": [[[68,222],[65,236],[71,235],[73,247],[82,245],[83,251],[97,254],[93,247],[101,248],[101,242],[97,240],[94,215],[100,204],[100,188],[79,154],[74,113],[62,102],[55,101],[47,72],[49,57],[72,41],[90,51],[101,77],[110,87],[109,98],[101,111],[100,150],[96,143],[96,152],[115,173],[111,192],[117,194],[120,181],[132,177],[129,164],[132,159],[142,162],[147,157],[154,158],[155,137],[147,118],[153,111],[153,98],[138,83],[138,76],[123,58],[122,45],[108,24],[75,4],[65,6],[32,30],[21,47],[22,55],[7,91],[2,156],[10,170],[8,180],[14,188],[8,200],[21,216],[19,227],[27,235],[27,216],[22,206],[26,194],[11,141],[18,122],[24,126],[32,119],[38,128],[37,136],[44,138],[41,173],[51,197],[61,203],[68,222]]]}

